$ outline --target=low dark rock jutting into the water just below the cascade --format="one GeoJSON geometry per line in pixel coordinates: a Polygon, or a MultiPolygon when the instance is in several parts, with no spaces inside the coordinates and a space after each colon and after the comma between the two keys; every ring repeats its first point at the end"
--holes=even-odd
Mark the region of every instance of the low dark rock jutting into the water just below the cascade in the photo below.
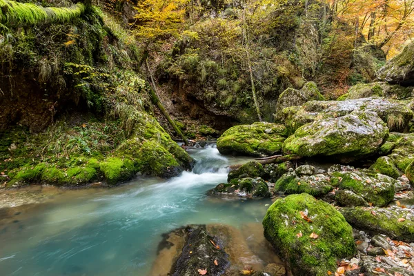
{"type": "Polygon", "coordinates": [[[262,178],[233,179],[228,183],[221,183],[213,190],[211,195],[235,195],[237,197],[270,197],[270,191],[266,181],[262,178]]]}

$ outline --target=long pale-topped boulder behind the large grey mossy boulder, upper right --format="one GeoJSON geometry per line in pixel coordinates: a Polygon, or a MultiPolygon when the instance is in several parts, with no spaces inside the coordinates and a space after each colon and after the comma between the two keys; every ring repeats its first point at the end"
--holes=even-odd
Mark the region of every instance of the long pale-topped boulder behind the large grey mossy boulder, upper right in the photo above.
{"type": "Polygon", "coordinates": [[[414,113],[406,102],[395,99],[348,99],[345,101],[308,101],[303,106],[285,108],[284,118],[288,132],[293,133],[304,124],[317,119],[328,119],[347,115],[355,110],[375,112],[392,131],[408,128],[414,113]]]}

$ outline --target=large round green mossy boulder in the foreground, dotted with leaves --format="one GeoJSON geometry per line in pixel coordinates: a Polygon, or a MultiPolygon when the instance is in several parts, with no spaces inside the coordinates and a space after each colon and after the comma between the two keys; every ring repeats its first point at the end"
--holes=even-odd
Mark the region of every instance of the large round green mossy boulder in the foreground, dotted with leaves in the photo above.
{"type": "Polygon", "coordinates": [[[328,275],[336,271],[337,260],[355,254],[352,228],[341,213],[308,194],[275,201],[263,226],[266,239],[293,275],[328,275]]]}

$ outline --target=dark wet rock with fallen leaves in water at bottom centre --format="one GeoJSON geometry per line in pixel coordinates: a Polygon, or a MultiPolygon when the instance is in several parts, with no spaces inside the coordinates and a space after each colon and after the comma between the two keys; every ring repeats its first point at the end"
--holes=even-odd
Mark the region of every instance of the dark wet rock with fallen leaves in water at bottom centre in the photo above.
{"type": "Polygon", "coordinates": [[[208,235],[202,228],[190,228],[186,245],[177,263],[172,268],[173,276],[200,275],[199,269],[207,270],[207,275],[223,275],[229,265],[228,256],[220,248],[219,240],[208,235]],[[215,265],[217,260],[217,266],[215,265]]]}

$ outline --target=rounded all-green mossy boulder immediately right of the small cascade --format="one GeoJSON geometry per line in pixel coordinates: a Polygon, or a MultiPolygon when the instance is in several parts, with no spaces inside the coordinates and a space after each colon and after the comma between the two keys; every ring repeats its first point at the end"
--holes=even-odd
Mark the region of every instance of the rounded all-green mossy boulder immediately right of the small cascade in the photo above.
{"type": "Polygon", "coordinates": [[[267,156],[281,152],[285,139],[283,125],[257,122],[229,128],[217,140],[217,148],[224,155],[267,156]]]}

